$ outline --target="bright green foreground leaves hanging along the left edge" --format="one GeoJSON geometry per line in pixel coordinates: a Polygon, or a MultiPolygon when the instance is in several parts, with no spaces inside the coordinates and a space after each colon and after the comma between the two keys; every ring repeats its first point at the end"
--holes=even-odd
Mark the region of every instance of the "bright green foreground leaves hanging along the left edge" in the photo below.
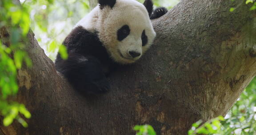
{"type": "Polygon", "coordinates": [[[23,104],[8,99],[18,92],[16,81],[17,70],[25,63],[32,66],[32,61],[25,52],[25,45],[21,39],[26,39],[30,27],[29,8],[14,4],[12,0],[0,1],[0,28],[7,26],[9,32],[1,35],[10,39],[0,39],[0,114],[4,116],[3,124],[8,126],[14,119],[24,127],[28,124],[21,118],[30,118],[31,114],[23,104]],[[6,40],[6,41],[5,41],[6,40]],[[5,44],[2,44],[5,43],[5,44]]]}

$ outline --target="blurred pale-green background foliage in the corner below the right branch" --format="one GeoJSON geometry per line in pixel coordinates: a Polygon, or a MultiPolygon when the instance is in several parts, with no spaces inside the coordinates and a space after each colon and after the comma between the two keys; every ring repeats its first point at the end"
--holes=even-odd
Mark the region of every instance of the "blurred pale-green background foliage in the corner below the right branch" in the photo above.
{"type": "Polygon", "coordinates": [[[226,115],[222,131],[226,134],[256,135],[256,78],[226,115]]]}

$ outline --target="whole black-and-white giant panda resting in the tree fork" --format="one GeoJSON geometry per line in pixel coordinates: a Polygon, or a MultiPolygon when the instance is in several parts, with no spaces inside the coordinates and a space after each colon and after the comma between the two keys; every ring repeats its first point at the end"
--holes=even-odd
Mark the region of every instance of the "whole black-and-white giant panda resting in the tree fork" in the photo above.
{"type": "Polygon", "coordinates": [[[108,91],[106,74],[140,59],[156,36],[151,19],[166,12],[163,7],[153,11],[152,0],[98,0],[65,38],[68,59],[57,54],[56,70],[84,94],[108,91]]]}

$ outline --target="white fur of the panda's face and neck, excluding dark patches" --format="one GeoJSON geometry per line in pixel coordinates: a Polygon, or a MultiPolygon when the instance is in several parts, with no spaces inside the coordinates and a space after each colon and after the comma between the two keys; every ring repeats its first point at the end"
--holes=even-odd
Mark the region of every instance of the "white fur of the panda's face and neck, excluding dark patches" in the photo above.
{"type": "Polygon", "coordinates": [[[97,31],[100,41],[113,60],[120,64],[133,63],[152,45],[156,36],[149,19],[147,9],[136,0],[116,0],[113,8],[100,9],[96,6],[76,26],[81,25],[89,31],[97,31]],[[130,28],[130,34],[122,41],[117,40],[117,30],[124,25],[130,28]],[[148,43],[142,46],[141,34],[145,30],[148,43]],[[128,52],[140,52],[132,58],[128,52]],[[122,57],[124,56],[124,57],[122,57]]]}

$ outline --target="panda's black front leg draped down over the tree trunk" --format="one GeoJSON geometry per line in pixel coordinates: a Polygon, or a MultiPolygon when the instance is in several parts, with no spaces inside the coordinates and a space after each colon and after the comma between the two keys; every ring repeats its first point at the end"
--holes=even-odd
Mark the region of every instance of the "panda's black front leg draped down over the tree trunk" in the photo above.
{"type": "Polygon", "coordinates": [[[104,75],[101,63],[94,56],[69,54],[59,70],[79,92],[98,94],[107,92],[110,84],[104,75]]]}

